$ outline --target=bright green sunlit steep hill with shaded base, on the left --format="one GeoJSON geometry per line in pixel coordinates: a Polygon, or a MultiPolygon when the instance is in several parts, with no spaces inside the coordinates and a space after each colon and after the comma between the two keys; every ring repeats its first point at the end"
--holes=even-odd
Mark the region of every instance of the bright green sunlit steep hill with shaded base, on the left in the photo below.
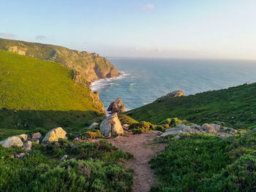
{"type": "Polygon", "coordinates": [[[0,50],[0,128],[77,126],[102,116],[97,93],[72,75],[53,61],[0,50]]]}

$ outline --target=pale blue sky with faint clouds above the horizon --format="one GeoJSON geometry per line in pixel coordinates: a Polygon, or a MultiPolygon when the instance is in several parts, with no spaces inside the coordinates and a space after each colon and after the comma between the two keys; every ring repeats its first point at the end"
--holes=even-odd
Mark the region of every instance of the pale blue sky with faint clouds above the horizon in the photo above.
{"type": "Polygon", "coordinates": [[[0,0],[0,38],[107,57],[256,59],[256,0],[0,0]]]}

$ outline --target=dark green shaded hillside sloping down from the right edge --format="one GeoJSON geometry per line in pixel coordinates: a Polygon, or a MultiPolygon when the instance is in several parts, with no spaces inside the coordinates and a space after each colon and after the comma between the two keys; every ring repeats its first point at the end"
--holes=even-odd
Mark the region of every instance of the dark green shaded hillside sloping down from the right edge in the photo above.
{"type": "Polygon", "coordinates": [[[154,101],[126,115],[136,120],[160,123],[166,118],[179,118],[192,123],[224,122],[233,128],[256,126],[256,83],[219,91],[154,101]]]}

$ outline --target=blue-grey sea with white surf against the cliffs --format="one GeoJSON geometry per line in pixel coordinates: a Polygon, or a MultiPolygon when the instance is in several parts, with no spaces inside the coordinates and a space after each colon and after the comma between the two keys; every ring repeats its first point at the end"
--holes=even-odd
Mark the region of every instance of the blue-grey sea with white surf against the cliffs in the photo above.
{"type": "Polygon", "coordinates": [[[117,97],[132,110],[175,90],[185,95],[256,82],[256,61],[110,59],[121,77],[92,84],[108,107],[117,97]]]}

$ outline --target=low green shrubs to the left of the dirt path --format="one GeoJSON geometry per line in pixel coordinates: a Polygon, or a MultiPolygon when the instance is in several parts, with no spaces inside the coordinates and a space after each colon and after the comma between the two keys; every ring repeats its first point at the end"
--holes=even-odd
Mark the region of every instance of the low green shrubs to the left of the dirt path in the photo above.
{"type": "Polygon", "coordinates": [[[130,191],[132,171],[118,161],[132,158],[108,142],[61,139],[37,145],[23,159],[19,147],[0,146],[0,191],[130,191]],[[67,160],[59,159],[67,154],[67,160]]]}

